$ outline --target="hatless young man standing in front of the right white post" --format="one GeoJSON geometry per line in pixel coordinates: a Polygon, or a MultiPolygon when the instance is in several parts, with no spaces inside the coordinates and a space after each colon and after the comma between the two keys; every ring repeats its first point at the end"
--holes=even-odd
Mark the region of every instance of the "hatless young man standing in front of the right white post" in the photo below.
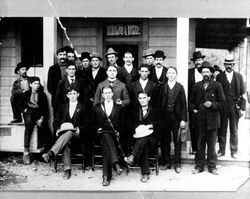
{"type": "Polygon", "coordinates": [[[165,128],[162,131],[161,150],[163,169],[171,168],[171,140],[174,142],[174,169],[181,172],[181,141],[178,136],[179,128],[185,128],[187,122],[187,102],[183,86],[176,81],[177,69],[170,66],[167,71],[167,82],[161,90],[161,110],[165,128]],[[173,135],[173,136],[172,136],[173,135]]]}

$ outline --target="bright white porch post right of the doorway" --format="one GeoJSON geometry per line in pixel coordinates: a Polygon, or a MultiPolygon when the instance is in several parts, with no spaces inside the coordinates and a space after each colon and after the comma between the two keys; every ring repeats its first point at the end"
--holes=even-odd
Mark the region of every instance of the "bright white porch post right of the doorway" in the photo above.
{"type": "MultiPolygon", "coordinates": [[[[177,80],[185,89],[187,96],[188,89],[188,64],[189,64],[189,18],[177,18],[177,80]]],[[[186,142],[186,151],[190,148],[190,139],[186,142]]]]}

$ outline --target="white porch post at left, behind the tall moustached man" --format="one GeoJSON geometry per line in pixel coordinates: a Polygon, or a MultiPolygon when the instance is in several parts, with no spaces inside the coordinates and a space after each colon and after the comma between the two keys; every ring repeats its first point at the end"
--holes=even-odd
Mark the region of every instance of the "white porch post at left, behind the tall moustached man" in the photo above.
{"type": "Polygon", "coordinates": [[[43,85],[44,91],[48,96],[49,110],[50,110],[50,127],[52,127],[52,107],[51,107],[51,95],[47,89],[47,79],[49,67],[54,64],[55,52],[57,41],[57,22],[54,17],[43,17],[43,85]]]}

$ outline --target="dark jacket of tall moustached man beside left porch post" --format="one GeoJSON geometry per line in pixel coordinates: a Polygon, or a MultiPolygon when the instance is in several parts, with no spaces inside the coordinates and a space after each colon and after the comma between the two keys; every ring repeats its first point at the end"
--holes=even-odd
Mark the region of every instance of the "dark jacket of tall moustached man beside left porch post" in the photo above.
{"type": "Polygon", "coordinates": [[[59,64],[50,66],[49,72],[48,72],[47,89],[49,93],[51,94],[51,103],[53,107],[56,105],[55,94],[56,94],[58,83],[61,79],[62,79],[62,75],[61,75],[59,64]]]}

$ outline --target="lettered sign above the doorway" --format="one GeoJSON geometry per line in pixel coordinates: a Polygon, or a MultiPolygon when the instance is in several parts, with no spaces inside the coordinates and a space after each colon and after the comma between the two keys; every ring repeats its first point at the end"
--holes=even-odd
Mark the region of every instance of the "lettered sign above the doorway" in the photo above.
{"type": "Polygon", "coordinates": [[[141,28],[139,25],[107,25],[106,30],[106,35],[108,37],[141,35],[141,28]]]}

